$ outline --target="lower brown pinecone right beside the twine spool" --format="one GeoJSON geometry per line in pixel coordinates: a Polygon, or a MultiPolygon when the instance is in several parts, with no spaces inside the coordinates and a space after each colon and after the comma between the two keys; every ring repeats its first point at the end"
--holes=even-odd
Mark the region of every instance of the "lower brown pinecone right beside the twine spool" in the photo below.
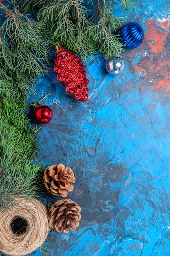
{"type": "Polygon", "coordinates": [[[58,232],[68,233],[71,229],[75,230],[79,226],[78,220],[81,219],[79,213],[82,209],[71,199],[63,199],[55,202],[49,209],[48,219],[50,227],[58,232]]]}

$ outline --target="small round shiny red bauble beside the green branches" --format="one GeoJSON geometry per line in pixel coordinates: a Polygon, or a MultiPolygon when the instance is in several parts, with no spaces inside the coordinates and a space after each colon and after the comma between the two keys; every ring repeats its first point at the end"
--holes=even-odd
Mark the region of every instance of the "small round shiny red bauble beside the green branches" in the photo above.
{"type": "Polygon", "coordinates": [[[47,124],[51,121],[53,112],[48,106],[37,105],[34,110],[34,118],[40,124],[47,124]]]}

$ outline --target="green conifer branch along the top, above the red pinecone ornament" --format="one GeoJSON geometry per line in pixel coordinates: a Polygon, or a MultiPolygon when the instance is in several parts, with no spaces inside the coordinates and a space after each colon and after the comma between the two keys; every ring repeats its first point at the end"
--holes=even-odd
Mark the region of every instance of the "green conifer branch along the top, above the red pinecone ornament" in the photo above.
{"type": "Polygon", "coordinates": [[[129,0],[16,0],[22,11],[37,8],[37,20],[46,26],[53,43],[59,42],[65,49],[73,50],[86,62],[94,54],[116,55],[125,51],[115,31],[124,17],[115,15],[120,2],[125,11],[132,10],[129,0]],[[91,9],[93,7],[93,10],[91,9]],[[113,34],[110,31],[114,31],[113,34]]]}

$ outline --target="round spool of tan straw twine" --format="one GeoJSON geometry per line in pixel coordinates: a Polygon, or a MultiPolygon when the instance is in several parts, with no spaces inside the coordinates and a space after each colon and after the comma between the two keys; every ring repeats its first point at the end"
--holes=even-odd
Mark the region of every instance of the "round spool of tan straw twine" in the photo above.
{"type": "Polygon", "coordinates": [[[37,249],[49,232],[47,211],[42,203],[32,198],[15,198],[15,207],[9,205],[8,212],[0,212],[0,251],[4,254],[23,256],[37,249]],[[16,218],[26,220],[23,234],[15,234],[11,222],[16,218]]]}

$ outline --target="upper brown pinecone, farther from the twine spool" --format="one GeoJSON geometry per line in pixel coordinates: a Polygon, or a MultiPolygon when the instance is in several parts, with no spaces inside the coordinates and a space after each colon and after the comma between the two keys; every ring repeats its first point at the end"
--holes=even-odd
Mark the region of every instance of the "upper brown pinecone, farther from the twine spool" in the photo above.
{"type": "Polygon", "coordinates": [[[46,189],[53,195],[65,197],[68,191],[73,190],[75,182],[74,173],[70,167],[64,164],[54,164],[47,167],[44,171],[44,184],[46,189]]]}

